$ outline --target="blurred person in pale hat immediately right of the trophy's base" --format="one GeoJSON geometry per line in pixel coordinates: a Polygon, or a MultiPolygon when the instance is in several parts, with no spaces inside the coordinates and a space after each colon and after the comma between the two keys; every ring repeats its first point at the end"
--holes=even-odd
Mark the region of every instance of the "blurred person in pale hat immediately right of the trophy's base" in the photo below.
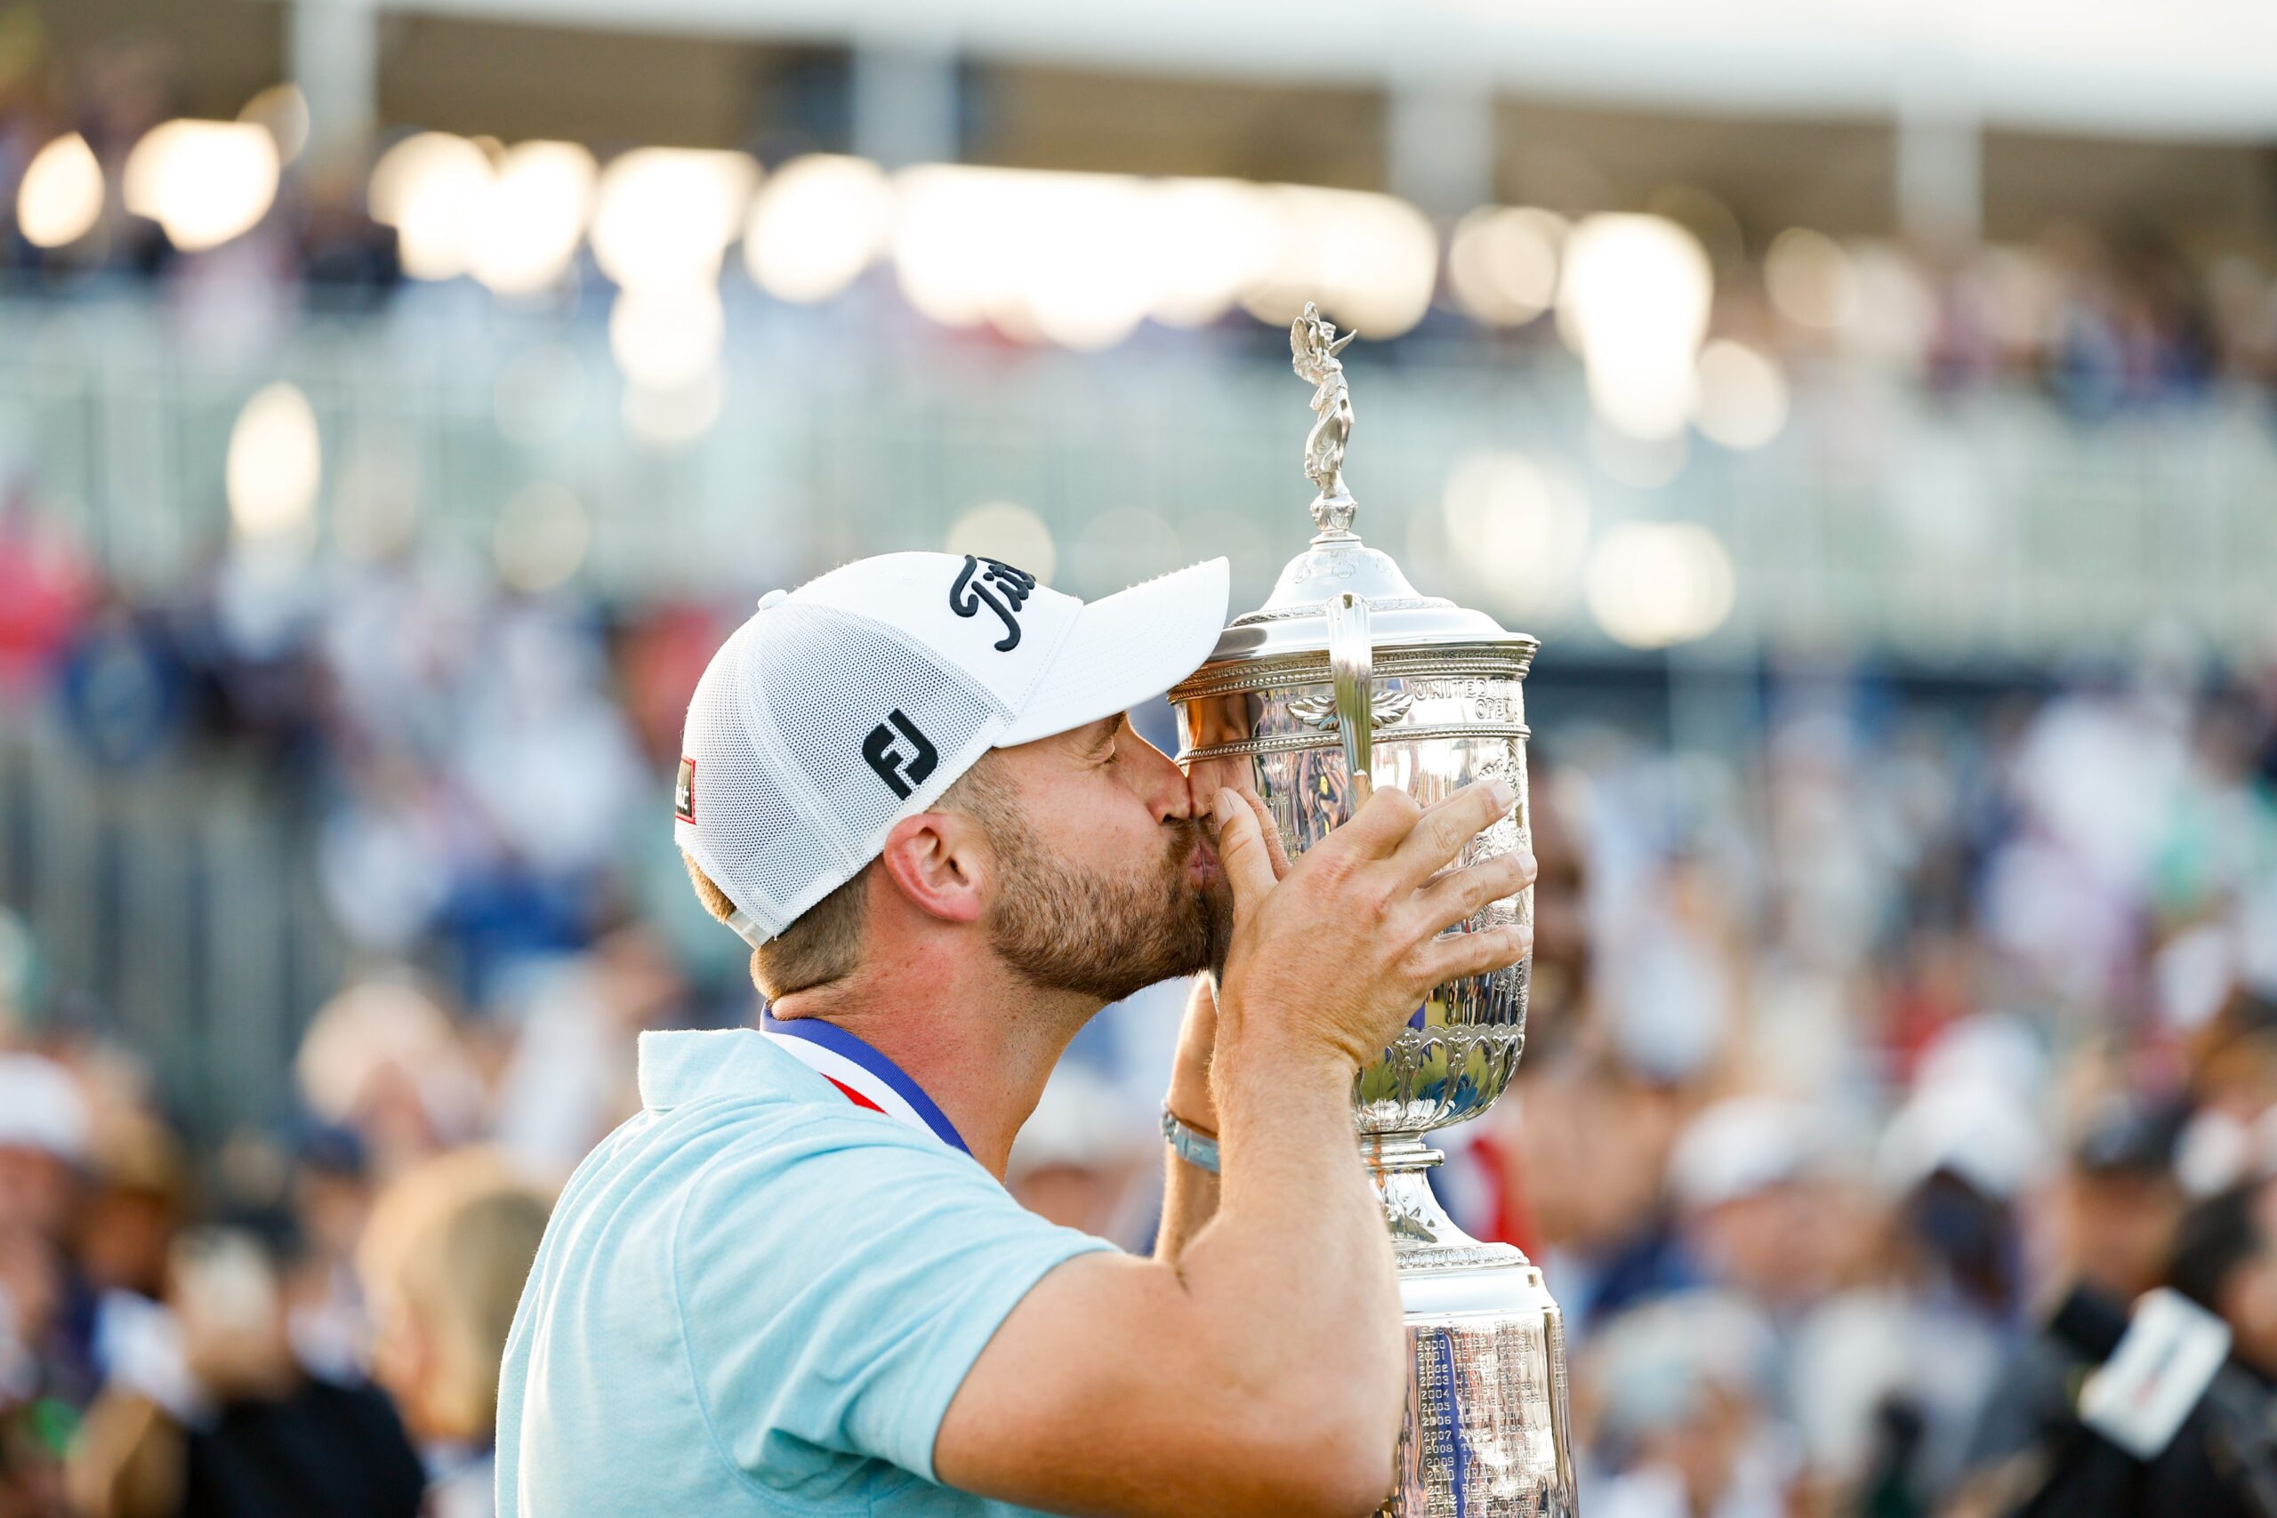
{"type": "Polygon", "coordinates": [[[1592,1518],[1787,1518],[1792,1434],[1767,1416],[1772,1334],[1742,1300],[1678,1293],[1614,1318],[1576,1368],[1605,1475],[1592,1518]]]}

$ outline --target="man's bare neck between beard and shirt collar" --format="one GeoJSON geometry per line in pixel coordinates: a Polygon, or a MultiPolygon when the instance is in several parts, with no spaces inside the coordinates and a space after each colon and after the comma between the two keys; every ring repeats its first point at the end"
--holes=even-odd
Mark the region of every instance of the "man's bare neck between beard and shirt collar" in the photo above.
{"type": "Polygon", "coordinates": [[[776,1020],[820,1017],[915,1081],[972,1158],[1004,1179],[1011,1140],[1036,1111],[1068,1040],[1100,1001],[1038,990],[997,960],[918,947],[858,974],[783,997],[776,1020]]]}

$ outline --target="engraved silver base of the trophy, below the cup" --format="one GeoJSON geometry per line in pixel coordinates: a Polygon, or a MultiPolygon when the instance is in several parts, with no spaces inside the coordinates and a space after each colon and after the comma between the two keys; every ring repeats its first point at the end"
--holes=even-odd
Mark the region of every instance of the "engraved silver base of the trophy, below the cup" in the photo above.
{"type": "Polygon", "coordinates": [[[1368,1145],[1407,1318],[1398,1486],[1380,1518],[1573,1518],[1564,1318],[1526,1254],[1455,1227],[1414,1136],[1368,1145]]]}

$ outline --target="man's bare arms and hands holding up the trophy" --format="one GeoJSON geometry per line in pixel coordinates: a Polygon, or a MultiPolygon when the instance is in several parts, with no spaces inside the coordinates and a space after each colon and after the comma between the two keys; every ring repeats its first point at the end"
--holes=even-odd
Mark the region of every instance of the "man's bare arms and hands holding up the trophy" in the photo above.
{"type": "MultiPolygon", "coordinates": [[[[943,1484],[1127,1518],[1378,1509],[1407,1338],[1391,1238],[1353,1145],[1353,1070],[1439,981],[1526,956],[1526,929],[1439,938],[1532,878],[1526,856],[1444,869],[1510,803],[1473,785],[1425,812],[1382,790],[1275,883],[1257,812],[1218,792],[1234,938],[1214,1038],[1198,992],[1173,1081],[1173,1111],[1200,1127],[1191,1079],[1207,1042],[1216,1211],[1157,1259],[1084,1254],[1045,1274],[940,1420],[943,1484]]],[[[1202,1208],[1173,1206],[1164,1222],[1189,1213],[1202,1208]]]]}

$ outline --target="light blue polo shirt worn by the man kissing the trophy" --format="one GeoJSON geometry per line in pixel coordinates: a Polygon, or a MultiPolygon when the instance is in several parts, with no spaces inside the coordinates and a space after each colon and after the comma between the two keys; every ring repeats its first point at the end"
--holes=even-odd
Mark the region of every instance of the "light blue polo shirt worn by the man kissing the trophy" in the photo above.
{"type": "Polygon", "coordinates": [[[499,1518],[1025,1509],[934,1484],[950,1397],[1061,1261],[979,1161],[751,1029],[640,1036],[499,1375],[499,1518]]]}

